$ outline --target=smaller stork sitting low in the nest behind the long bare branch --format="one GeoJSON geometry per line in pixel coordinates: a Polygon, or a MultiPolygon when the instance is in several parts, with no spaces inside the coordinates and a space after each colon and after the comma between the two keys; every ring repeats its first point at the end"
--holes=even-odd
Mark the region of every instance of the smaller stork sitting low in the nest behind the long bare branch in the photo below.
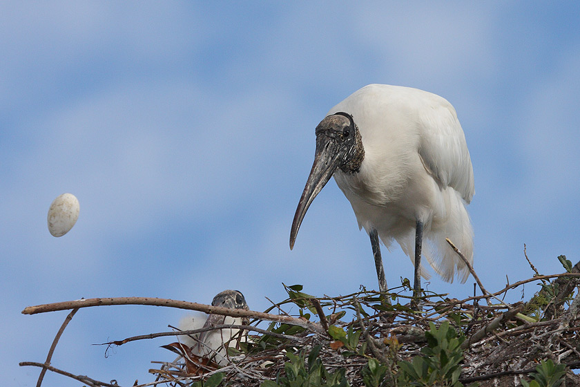
{"type": "MultiPolygon", "coordinates": [[[[216,294],[211,301],[213,306],[221,306],[223,308],[245,309],[249,310],[244,294],[238,290],[224,290],[216,294]]],[[[195,330],[199,328],[207,328],[215,325],[229,324],[229,325],[243,325],[247,323],[240,317],[222,316],[220,314],[210,314],[206,317],[205,314],[200,314],[196,317],[184,317],[180,321],[180,330],[195,330]]],[[[206,357],[213,359],[215,363],[220,366],[227,364],[226,348],[235,347],[240,339],[239,329],[223,328],[221,330],[209,330],[198,335],[180,336],[180,341],[191,348],[193,355],[199,357],[206,357]]]]}

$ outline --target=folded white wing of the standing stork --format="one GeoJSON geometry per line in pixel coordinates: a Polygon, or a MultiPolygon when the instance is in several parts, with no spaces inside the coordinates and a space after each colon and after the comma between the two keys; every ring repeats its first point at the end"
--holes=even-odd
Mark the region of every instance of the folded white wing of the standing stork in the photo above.
{"type": "Polygon", "coordinates": [[[473,167],[465,135],[453,106],[441,98],[420,117],[419,155],[445,187],[452,187],[469,203],[475,193],[473,167]]]}

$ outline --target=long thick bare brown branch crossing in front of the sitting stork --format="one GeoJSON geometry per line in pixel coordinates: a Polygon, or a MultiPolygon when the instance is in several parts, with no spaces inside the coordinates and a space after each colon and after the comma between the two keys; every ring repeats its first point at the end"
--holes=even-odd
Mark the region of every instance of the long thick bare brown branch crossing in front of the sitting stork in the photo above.
{"type": "MultiPolygon", "coordinates": [[[[579,274],[580,275],[580,274],[579,274]]],[[[59,303],[47,303],[43,305],[29,306],[24,308],[23,314],[37,314],[45,312],[55,312],[57,310],[68,310],[75,308],[88,308],[92,306],[106,305],[152,305],[165,306],[168,308],[179,308],[186,310],[197,310],[208,314],[220,314],[231,317],[252,317],[260,320],[275,321],[287,323],[289,325],[298,325],[314,332],[324,332],[322,326],[318,323],[296,319],[289,316],[280,316],[279,314],[269,314],[264,312],[255,312],[253,310],[222,308],[221,306],[205,305],[203,303],[191,303],[187,301],[177,301],[171,299],[157,299],[151,297],[110,297],[99,299],[82,299],[76,301],[64,301],[59,303]]]]}

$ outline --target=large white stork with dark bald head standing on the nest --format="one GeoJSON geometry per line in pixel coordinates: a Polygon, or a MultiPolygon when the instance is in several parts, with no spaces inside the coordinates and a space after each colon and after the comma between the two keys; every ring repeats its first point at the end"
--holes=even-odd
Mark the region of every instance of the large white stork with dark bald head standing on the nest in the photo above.
{"type": "Polygon", "coordinates": [[[414,296],[421,294],[420,276],[428,278],[422,252],[445,281],[467,280],[467,265],[445,238],[473,261],[465,206],[474,178],[463,129],[447,100],[416,88],[370,84],[331,108],[316,126],[316,153],[292,223],[291,249],[308,207],[331,176],[371,238],[381,292],[387,283],[378,238],[387,248],[396,240],[414,262],[414,296]]]}

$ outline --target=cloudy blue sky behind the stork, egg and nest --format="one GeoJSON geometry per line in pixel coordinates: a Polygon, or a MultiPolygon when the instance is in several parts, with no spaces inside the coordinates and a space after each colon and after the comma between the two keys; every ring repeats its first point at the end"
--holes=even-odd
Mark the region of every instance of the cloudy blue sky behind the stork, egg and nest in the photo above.
{"type": "MultiPolygon", "coordinates": [[[[281,283],[322,296],[376,288],[367,235],[336,183],[289,232],[328,109],[371,83],[456,108],[476,195],[475,268],[488,290],[579,261],[580,6],[576,2],[4,2],[0,6],[0,291],[3,385],[34,386],[66,312],[28,305],[157,296],[254,310],[281,283]],[[50,202],[79,199],[50,236],[50,202]]],[[[383,248],[387,283],[412,276],[383,248]]],[[[461,298],[465,285],[429,290],[461,298]]],[[[525,297],[537,286],[525,287],[525,297]]],[[[521,292],[508,295],[510,301],[521,292]]],[[[52,365],[130,386],[151,381],[157,339],[184,312],[80,310],[52,365]]],[[[43,386],[78,386],[46,375],[43,386]]]]}

